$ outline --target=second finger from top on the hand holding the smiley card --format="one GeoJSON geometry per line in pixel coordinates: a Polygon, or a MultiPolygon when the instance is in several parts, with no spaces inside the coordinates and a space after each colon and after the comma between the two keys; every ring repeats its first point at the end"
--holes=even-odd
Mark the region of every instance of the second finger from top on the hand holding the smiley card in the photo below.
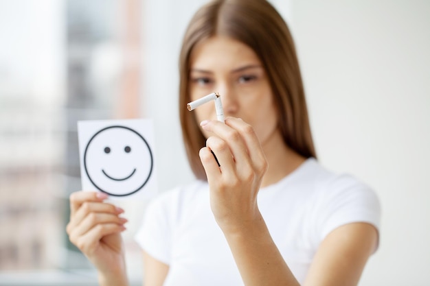
{"type": "Polygon", "coordinates": [[[124,213],[124,210],[106,202],[83,202],[78,211],[70,217],[67,231],[69,232],[69,228],[74,228],[80,224],[89,213],[111,213],[113,215],[119,215],[124,213]]]}

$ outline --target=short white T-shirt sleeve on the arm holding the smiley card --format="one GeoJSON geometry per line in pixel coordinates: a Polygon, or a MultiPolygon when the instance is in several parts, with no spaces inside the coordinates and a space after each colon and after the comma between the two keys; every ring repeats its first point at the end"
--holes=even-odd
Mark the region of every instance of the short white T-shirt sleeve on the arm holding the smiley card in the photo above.
{"type": "Polygon", "coordinates": [[[171,219],[168,197],[160,195],[148,204],[142,225],[135,234],[135,241],[150,256],[169,264],[171,253],[171,219]]]}

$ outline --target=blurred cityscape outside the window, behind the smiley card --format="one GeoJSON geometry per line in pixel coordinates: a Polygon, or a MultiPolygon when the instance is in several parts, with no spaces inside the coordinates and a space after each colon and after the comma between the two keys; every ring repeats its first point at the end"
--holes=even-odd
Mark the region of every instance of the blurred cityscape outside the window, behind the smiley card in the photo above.
{"type": "Polygon", "coordinates": [[[0,271],[90,267],[65,233],[77,121],[139,115],[140,2],[0,3],[0,271]]]}

